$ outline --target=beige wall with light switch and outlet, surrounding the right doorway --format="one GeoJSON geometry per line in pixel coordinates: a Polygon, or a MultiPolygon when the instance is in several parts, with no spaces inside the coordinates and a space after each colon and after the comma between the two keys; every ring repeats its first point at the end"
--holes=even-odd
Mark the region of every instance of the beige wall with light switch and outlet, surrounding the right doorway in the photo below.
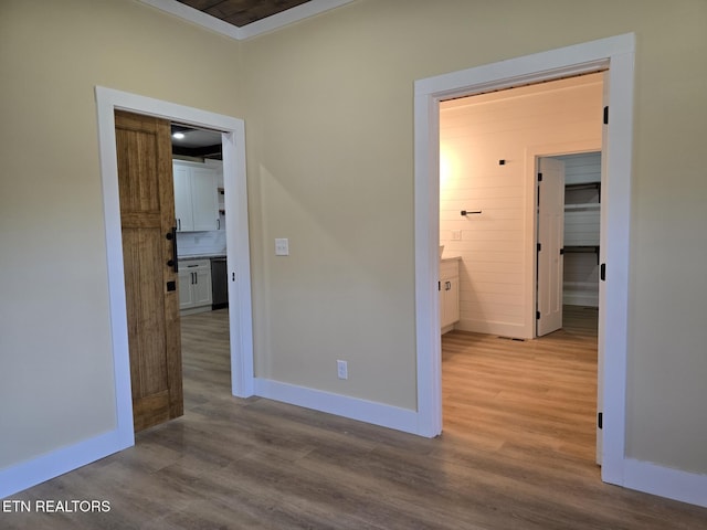
{"type": "Polygon", "coordinates": [[[360,0],[246,41],[257,374],[414,407],[414,81],[635,32],[627,454],[707,473],[706,20],[701,0],[360,0]]]}

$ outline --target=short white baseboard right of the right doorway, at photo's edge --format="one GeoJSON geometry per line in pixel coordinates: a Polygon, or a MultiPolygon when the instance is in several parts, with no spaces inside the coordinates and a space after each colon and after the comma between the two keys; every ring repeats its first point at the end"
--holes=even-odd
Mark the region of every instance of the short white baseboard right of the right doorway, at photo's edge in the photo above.
{"type": "Polygon", "coordinates": [[[625,458],[623,464],[626,488],[707,508],[707,475],[633,458],[625,458]]]}

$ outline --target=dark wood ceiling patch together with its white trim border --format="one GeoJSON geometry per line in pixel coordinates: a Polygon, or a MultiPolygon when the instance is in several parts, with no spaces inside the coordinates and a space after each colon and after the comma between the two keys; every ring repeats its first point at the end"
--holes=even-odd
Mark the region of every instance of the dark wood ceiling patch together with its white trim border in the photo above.
{"type": "Polygon", "coordinates": [[[354,0],[140,0],[236,40],[273,31],[354,0]]]}

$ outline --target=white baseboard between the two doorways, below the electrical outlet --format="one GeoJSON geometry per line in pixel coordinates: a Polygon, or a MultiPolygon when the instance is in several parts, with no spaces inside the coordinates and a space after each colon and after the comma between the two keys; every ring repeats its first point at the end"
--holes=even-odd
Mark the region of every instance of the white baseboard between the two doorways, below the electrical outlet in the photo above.
{"type": "Polygon", "coordinates": [[[258,378],[255,379],[255,395],[395,431],[420,434],[418,413],[409,409],[258,378]]]}

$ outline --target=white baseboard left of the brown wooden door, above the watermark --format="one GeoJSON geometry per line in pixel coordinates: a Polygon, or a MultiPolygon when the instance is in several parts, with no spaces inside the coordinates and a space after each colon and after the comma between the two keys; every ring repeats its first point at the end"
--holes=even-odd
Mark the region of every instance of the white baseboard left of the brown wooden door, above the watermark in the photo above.
{"type": "Polygon", "coordinates": [[[0,469],[0,498],[59,477],[130,445],[120,441],[116,430],[0,469]]]}

